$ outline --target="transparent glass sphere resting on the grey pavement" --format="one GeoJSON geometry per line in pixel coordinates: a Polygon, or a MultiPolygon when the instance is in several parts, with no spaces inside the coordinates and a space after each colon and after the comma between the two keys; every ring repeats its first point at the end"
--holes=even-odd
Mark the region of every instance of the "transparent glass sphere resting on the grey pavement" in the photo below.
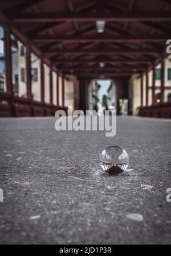
{"type": "Polygon", "coordinates": [[[101,168],[108,174],[117,175],[127,170],[129,157],[123,147],[106,147],[100,155],[101,168]]]}

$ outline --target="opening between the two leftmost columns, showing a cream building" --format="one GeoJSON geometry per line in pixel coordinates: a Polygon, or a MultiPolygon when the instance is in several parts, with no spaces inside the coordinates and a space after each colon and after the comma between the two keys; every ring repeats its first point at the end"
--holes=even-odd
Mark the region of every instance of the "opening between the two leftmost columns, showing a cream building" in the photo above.
{"type": "Polygon", "coordinates": [[[19,97],[27,97],[26,47],[15,35],[11,34],[10,39],[13,93],[19,97]]]}

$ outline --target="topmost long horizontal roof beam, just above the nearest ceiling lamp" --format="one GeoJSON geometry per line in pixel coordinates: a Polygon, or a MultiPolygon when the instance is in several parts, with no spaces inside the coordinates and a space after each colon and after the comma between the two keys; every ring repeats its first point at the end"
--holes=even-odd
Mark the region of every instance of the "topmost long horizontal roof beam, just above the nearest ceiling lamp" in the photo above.
{"type": "Polygon", "coordinates": [[[102,13],[102,14],[79,14],[79,13],[40,13],[40,14],[21,14],[10,17],[14,22],[95,22],[99,19],[104,21],[171,21],[171,11],[148,11],[148,12],[137,12],[128,11],[115,13],[102,13]]]}

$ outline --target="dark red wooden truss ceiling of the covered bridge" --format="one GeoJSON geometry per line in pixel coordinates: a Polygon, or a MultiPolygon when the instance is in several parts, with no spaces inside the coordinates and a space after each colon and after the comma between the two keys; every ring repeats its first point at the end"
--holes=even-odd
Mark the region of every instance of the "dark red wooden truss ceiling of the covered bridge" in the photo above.
{"type": "Polygon", "coordinates": [[[169,0],[4,0],[1,16],[52,69],[78,78],[142,74],[166,57],[171,35],[169,0]]]}

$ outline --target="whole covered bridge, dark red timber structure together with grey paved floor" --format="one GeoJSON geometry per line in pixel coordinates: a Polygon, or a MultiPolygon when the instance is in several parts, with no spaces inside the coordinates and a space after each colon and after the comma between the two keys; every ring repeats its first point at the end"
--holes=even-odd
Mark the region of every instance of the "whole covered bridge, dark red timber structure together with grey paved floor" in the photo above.
{"type": "Polygon", "coordinates": [[[1,244],[170,244],[170,41],[170,0],[1,0],[1,244]],[[56,131],[106,79],[116,135],[56,131]]]}

